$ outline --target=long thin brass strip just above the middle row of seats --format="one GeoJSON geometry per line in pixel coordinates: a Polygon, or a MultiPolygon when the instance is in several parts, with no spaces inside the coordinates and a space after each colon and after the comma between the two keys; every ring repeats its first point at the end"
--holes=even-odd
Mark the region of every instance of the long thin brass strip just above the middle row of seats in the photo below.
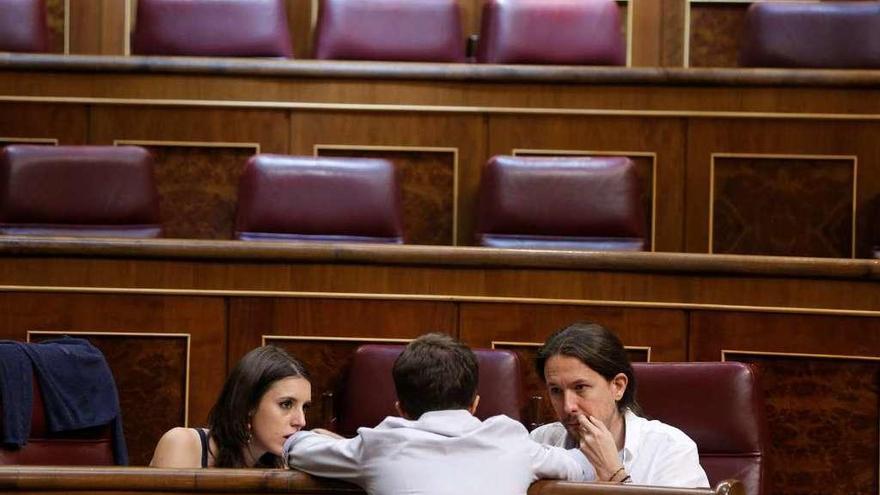
{"type": "Polygon", "coordinates": [[[71,96],[12,96],[0,95],[0,102],[24,103],[71,103],[119,106],[168,106],[168,107],[216,107],[279,110],[335,110],[351,112],[425,112],[464,114],[510,114],[510,115],[580,115],[611,117],[693,117],[693,118],[744,118],[778,120],[880,120],[880,114],[854,113],[784,113],[784,112],[736,112],[702,110],[615,110],[600,108],[548,108],[548,107],[485,107],[464,105],[395,105],[372,103],[308,103],[288,101],[247,100],[184,100],[155,98],[94,98],[71,96]]]}

